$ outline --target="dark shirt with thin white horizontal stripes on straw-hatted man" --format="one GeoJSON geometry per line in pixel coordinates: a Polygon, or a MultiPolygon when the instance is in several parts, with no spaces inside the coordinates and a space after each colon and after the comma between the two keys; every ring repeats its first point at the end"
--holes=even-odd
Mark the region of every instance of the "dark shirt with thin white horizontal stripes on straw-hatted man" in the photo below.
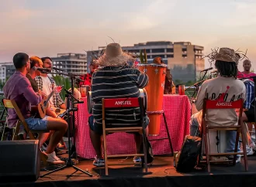
{"type": "MultiPolygon", "coordinates": [[[[148,83],[147,74],[129,66],[106,66],[92,75],[92,113],[95,124],[102,124],[102,98],[139,97],[148,83]]],[[[136,126],[140,124],[140,107],[106,110],[106,124],[136,126]]]]}

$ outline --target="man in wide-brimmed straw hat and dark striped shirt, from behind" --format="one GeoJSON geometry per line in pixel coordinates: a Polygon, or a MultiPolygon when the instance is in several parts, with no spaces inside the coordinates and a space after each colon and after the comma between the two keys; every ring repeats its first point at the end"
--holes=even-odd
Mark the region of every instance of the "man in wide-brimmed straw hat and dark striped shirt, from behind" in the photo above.
{"type": "MultiPolygon", "coordinates": [[[[95,105],[93,107],[94,123],[90,123],[90,137],[96,151],[96,158],[93,162],[95,166],[105,165],[101,149],[102,98],[140,97],[139,89],[144,88],[148,83],[147,74],[131,68],[128,65],[130,61],[133,61],[133,58],[123,53],[119,44],[109,44],[106,54],[103,54],[98,61],[102,67],[92,74],[92,100],[95,105]]],[[[106,110],[106,123],[114,128],[141,126],[140,107],[106,110]]],[[[134,138],[137,153],[139,153],[142,138],[140,134],[134,134],[134,138]]],[[[140,162],[141,160],[133,158],[133,161],[140,162]]]]}

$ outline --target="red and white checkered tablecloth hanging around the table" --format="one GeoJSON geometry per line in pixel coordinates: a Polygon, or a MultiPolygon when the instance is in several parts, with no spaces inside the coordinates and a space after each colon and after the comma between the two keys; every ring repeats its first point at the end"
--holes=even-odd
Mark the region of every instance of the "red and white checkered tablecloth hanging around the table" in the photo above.
{"type": "MultiPolygon", "coordinates": [[[[95,151],[89,136],[89,126],[86,97],[81,98],[84,104],[78,104],[76,115],[76,142],[77,152],[81,158],[94,158],[95,151]]],[[[189,134],[189,119],[191,117],[191,104],[187,96],[164,95],[163,110],[171,136],[174,151],[182,148],[185,135],[189,134]]],[[[160,134],[149,137],[154,155],[166,155],[171,153],[168,135],[165,130],[164,119],[161,117],[160,134]]],[[[107,149],[111,155],[123,155],[135,153],[133,134],[114,133],[107,136],[107,149]]]]}

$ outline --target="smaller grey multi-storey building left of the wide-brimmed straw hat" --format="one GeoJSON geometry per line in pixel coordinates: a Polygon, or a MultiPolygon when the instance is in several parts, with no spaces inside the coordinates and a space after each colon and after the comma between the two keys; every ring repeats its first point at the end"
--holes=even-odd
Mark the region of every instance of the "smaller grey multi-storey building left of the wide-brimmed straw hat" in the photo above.
{"type": "Polygon", "coordinates": [[[87,72],[87,58],[80,53],[58,53],[52,57],[53,65],[68,73],[84,74],[87,72]]]}

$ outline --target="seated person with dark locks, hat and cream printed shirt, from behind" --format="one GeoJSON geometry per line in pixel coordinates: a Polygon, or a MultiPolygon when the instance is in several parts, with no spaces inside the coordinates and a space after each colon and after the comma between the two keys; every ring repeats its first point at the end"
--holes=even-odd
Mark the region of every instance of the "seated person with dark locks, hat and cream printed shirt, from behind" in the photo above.
{"type": "MultiPolygon", "coordinates": [[[[237,80],[239,58],[234,53],[234,49],[220,48],[220,51],[211,58],[215,60],[216,70],[220,74],[216,78],[206,80],[199,89],[195,100],[195,107],[199,112],[192,115],[190,127],[192,136],[199,136],[201,131],[204,99],[232,102],[241,98],[245,99],[246,96],[244,83],[237,80]]],[[[206,121],[214,126],[234,125],[237,124],[237,113],[232,109],[208,110],[206,121]]],[[[227,152],[234,152],[236,135],[236,131],[227,131],[227,152]]],[[[237,162],[240,162],[240,157],[237,157],[237,162]]]]}

